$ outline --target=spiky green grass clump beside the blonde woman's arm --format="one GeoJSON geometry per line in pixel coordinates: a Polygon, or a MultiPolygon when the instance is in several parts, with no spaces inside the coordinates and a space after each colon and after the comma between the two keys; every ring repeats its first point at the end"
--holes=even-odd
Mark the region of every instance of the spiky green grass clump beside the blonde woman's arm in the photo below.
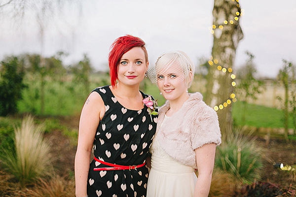
{"type": "MultiPolygon", "coordinates": [[[[215,165],[234,175],[238,180],[252,182],[259,178],[262,167],[261,149],[256,146],[255,138],[244,136],[243,130],[228,131],[217,147],[215,165]]],[[[252,133],[249,133],[251,135],[252,133]]]]}

